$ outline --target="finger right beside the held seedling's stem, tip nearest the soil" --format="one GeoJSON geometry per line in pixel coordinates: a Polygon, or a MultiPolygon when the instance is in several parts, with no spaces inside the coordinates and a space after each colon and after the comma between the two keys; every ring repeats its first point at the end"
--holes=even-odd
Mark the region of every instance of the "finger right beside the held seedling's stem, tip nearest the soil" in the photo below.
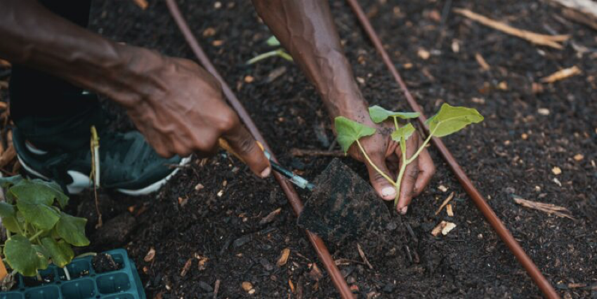
{"type": "MultiPolygon", "coordinates": [[[[413,134],[409,140],[407,140],[407,150],[406,150],[406,157],[407,159],[410,158],[416,150],[418,150],[419,145],[419,134],[413,134]]],[[[405,173],[402,176],[402,183],[400,184],[400,196],[398,197],[398,205],[396,205],[396,209],[398,213],[404,215],[407,212],[408,205],[412,200],[414,195],[414,182],[416,182],[416,178],[419,176],[419,159],[415,159],[410,164],[408,164],[405,168],[405,173]]]]}

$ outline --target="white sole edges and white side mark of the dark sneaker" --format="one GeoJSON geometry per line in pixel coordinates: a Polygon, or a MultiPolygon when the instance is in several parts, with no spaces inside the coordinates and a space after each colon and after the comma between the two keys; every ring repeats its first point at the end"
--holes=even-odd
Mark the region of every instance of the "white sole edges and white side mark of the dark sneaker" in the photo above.
{"type": "MultiPolygon", "coordinates": [[[[31,173],[32,175],[36,175],[37,177],[42,178],[44,180],[50,180],[50,178],[46,177],[46,175],[42,175],[41,173],[35,171],[33,168],[29,167],[25,163],[25,161],[23,161],[21,159],[21,157],[19,157],[19,155],[17,155],[17,158],[19,159],[19,163],[21,164],[22,168],[25,168],[25,171],[27,171],[28,173],[31,173]]],[[[190,160],[191,160],[190,157],[183,158],[183,159],[181,159],[181,163],[179,163],[178,166],[185,166],[186,164],[188,164],[190,162],[190,160]]],[[[156,192],[157,190],[159,190],[160,187],[162,187],[164,184],[166,184],[166,182],[168,182],[168,180],[170,180],[174,175],[176,175],[176,173],[178,173],[179,170],[180,170],[180,168],[177,167],[169,175],[166,175],[166,178],[163,178],[162,180],[154,182],[152,185],[149,185],[142,189],[138,189],[138,190],[117,189],[117,191],[121,192],[123,194],[131,195],[131,196],[140,196],[140,195],[145,195],[145,194],[150,194],[152,192],[156,192]]],[[[84,173],[80,173],[79,171],[67,171],[67,173],[72,178],[72,182],[66,186],[69,194],[79,194],[83,190],[85,190],[91,186],[91,180],[89,180],[88,175],[85,175],[84,173]]]]}

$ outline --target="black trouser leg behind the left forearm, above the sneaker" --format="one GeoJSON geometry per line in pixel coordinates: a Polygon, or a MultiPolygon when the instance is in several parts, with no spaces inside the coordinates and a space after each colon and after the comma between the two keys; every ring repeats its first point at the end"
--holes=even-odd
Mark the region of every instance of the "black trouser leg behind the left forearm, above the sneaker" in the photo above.
{"type": "MultiPolygon", "coordinates": [[[[87,27],[91,0],[40,0],[53,13],[87,27]]],[[[95,95],[22,65],[13,65],[11,117],[20,135],[44,150],[75,150],[89,146],[90,128],[100,126],[95,95]],[[58,147],[58,148],[57,148],[58,147]]]]}

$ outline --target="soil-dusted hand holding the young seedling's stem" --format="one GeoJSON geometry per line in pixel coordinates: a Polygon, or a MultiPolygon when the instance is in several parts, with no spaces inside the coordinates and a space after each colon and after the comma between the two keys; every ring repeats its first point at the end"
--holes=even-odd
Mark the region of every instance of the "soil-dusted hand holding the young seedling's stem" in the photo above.
{"type": "MultiPolygon", "coordinates": [[[[374,124],[373,121],[369,119],[368,115],[367,117],[360,117],[359,119],[362,124],[376,128],[376,133],[374,135],[360,140],[360,144],[365,152],[367,152],[369,159],[371,159],[372,163],[375,164],[379,170],[386,173],[386,175],[393,180],[396,180],[398,170],[402,164],[402,151],[400,150],[398,142],[393,141],[391,138],[393,123],[391,121],[384,121],[381,124],[374,124]]],[[[419,136],[419,133],[415,131],[406,143],[406,154],[408,159],[419,149],[419,147],[421,147],[423,140],[421,136],[419,136]]],[[[369,180],[377,194],[379,194],[382,199],[388,201],[394,200],[396,197],[394,185],[377,172],[374,166],[369,164],[356,144],[353,144],[352,147],[350,147],[348,153],[354,159],[365,163],[367,171],[369,172],[369,180]]],[[[419,157],[406,166],[405,175],[402,177],[398,205],[396,205],[398,213],[404,215],[407,212],[408,205],[412,201],[412,198],[416,197],[424,190],[434,173],[435,164],[433,164],[429,152],[425,149],[419,154],[419,157]]]]}

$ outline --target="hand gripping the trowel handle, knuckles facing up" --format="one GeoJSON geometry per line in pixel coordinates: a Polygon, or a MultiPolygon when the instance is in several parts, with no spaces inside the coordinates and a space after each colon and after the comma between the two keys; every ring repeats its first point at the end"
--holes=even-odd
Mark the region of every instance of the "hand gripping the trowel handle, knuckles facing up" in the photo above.
{"type": "Polygon", "coordinates": [[[132,101],[134,105],[124,104],[155,151],[164,157],[191,153],[205,157],[216,152],[218,139],[223,138],[251,171],[267,177],[268,159],[223,100],[218,80],[191,60],[159,58],[162,62],[150,67],[139,82],[145,86],[141,98],[132,101]]]}

